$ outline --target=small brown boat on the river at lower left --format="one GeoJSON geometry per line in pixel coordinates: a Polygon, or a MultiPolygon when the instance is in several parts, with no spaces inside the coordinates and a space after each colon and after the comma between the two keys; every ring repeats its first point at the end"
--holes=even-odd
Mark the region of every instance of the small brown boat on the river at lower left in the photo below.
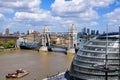
{"type": "Polygon", "coordinates": [[[29,74],[28,71],[23,70],[23,69],[17,69],[16,72],[8,73],[6,75],[6,78],[21,78],[27,74],[29,74]]]}

